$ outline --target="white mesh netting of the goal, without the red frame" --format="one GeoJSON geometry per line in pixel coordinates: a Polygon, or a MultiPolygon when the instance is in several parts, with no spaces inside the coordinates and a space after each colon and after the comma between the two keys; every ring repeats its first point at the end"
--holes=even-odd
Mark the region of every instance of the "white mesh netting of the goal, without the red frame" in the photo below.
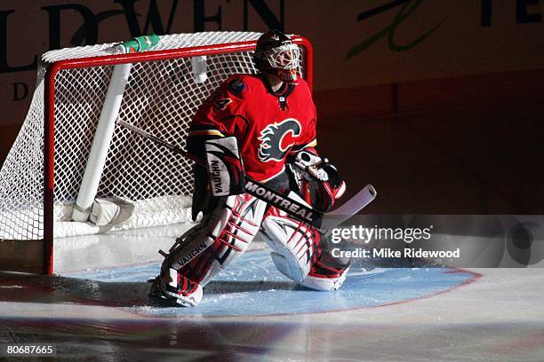
{"type": "MultiPolygon", "coordinates": [[[[260,33],[164,35],[150,51],[256,40],[260,33]]],[[[0,170],[0,239],[44,238],[44,75],[63,59],[111,54],[115,43],[49,51],[38,68],[27,118],[0,170]]],[[[176,146],[204,98],[229,75],[255,73],[252,51],[207,55],[207,80],[196,83],[190,58],[134,63],[119,119],[176,146]]],[[[54,78],[55,222],[70,219],[114,66],[63,69],[54,78]]],[[[300,73],[301,69],[300,69],[300,73]]],[[[118,228],[183,221],[190,206],[191,163],[164,146],[116,127],[97,197],[121,198],[143,208],[118,228]]],[[[55,232],[57,224],[55,224],[55,232]]]]}

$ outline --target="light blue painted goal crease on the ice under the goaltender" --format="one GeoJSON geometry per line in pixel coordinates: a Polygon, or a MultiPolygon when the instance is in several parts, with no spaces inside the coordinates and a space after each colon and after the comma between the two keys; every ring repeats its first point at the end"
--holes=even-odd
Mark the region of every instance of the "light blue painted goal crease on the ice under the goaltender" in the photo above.
{"type": "MultiPolygon", "coordinates": [[[[156,276],[160,264],[142,264],[66,275],[95,283],[144,283],[156,276]]],[[[255,250],[237,259],[204,287],[204,299],[196,308],[164,308],[146,305],[134,311],[154,316],[254,316],[348,311],[400,303],[435,295],[460,286],[476,276],[468,271],[433,268],[378,269],[368,271],[355,259],[340,290],[325,293],[297,286],[276,271],[268,250],[255,250]]],[[[119,287],[119,298],[124,288],[119,287]]],[[[113,291],[115,293],[115,291],[113,291]]]]}

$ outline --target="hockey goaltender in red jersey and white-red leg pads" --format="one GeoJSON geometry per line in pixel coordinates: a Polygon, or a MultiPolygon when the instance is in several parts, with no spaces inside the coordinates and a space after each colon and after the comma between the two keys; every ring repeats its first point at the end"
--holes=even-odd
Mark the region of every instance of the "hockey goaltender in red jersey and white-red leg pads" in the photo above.
{"type": "Polygon", "coordinates": [[[314,148],[316,106],[297,72],[299,47],[270,31],[260,36],[254,63],[259,74],[231,75],[192,120],[188,153],[213,165],[194,169],[193,218],[204,216],[163,253],[160,274],[152,280],[154,299],[197,305],[206,283],[241,256],[257,232],[272,249],[277,270],[296,283],[331,291],[346,279],[350,259],[333,257],[316,226],[244,192],[245,173],[325,212],[346,188],[338,170],[314,148]],[[226,194],[209,187],[210,177],[220,180],[218,160],[228,169],[226,194]]]}

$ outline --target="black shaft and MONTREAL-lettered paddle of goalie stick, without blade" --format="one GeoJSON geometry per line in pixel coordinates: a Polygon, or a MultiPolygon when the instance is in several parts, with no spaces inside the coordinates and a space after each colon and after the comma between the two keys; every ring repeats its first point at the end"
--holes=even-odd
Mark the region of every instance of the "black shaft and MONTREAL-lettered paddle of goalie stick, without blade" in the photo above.
{"type": "MultiPolygon", "coordinates": [[[[117,120],[117,125],[127,130],[132,130],[132,132],[140,135],[141,137],[148,138],[151,141],[168,148],[173,153],[178,153],[183,157],[188,158],[191,161],[195,161],[197,164],[205,167],[204,161],[196,159],[194,156],[182,150],[180,147],[174,146],[164,141],[164,139],[152,135],[146,130],[142,130],[139,127],[136,127],[122,120],[117,120]]],[[[263,185],[260,182],[255,181],[254,179],[252,179],[252,177],[248,177],[247,175],[245,175],[244,179],[246,193],[249,193],[262,201],[268,202],[272,206],[276,207],[277,209],[283,210],[284,212],[289,214],[289,216],[292,216],[299,221],[311,224],[319,228],[323,220],[323,213],[306,205],[303,205],[298,201],[294,201],[282,193],[276,192],[267,185],[263,185]]]]}

